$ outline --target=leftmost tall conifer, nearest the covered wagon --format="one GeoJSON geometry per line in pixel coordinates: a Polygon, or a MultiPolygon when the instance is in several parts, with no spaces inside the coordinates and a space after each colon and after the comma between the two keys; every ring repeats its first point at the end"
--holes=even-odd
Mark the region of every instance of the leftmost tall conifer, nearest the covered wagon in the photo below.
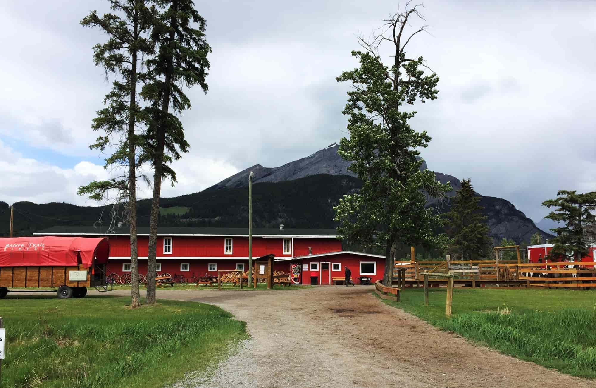
{"type": "MultiPolygon", "coordinates": [[[[138,247],[136,237],[136,180],[139,154],[142,155],[142,132],[147,115],[139,106],[137,85],[146,81],[147,75],[139,69],[142,58],[153,54],[154,44],[147,39],[153,27],[155,11],[144,0],[108,0],[115,13],[100,17],[92,11],[80,23],[85,27],[98,27],[108,35],[104,44],[94,47],[94,60],[103,66],[106,76],[112,74],[110,93],[105,95],[104,109],[97,111],[92,128],[104,131],[91,149],[113,153],[105,159],[105,168],[123,167],[126,173],[106,181],[93,181],[79,187],[79,195],[88,195],[97,201],[108,198],[115,204],[125,204],[131,235],[132,307],[140,304],[138,281],[138,247]],[[140,151],[139,151],[140,150],[140,151]]],[[[116,212],[113,212],[114,215],[116,212]]]]}

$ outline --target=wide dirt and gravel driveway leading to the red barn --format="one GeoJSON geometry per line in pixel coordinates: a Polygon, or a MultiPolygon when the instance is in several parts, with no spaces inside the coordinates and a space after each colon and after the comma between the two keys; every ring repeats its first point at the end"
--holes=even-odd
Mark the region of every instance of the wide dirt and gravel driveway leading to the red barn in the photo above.
{"type": "Polygon", "coordinates": [[[175,386],[596,386],[472,346],[384,305],[372,290],[158,291],[158,298],[221,306],[246,321],[252,337],[214,375],[190,375],[175,386]]]}

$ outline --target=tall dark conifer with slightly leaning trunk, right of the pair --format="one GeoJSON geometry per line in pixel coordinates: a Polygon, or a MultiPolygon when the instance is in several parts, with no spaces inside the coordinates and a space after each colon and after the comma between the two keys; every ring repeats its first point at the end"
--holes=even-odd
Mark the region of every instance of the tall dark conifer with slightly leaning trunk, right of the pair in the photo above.
{"type": "Polygon", "coordinates": [[[145,111],[151,116],[147,129],[147,162],[154,169],[153,198],[149,222],[147,260],[147,303],[155,303],[155,267],[159,197],[162,180],[172,184],[176,174],[169,167],[173,160],[187,152],[189,144],[178,115],[190,109],[191,103],[182,88],[199,87],[207,93],[207,54],[211,47],[205,38],[206,21],[194,9],[191,0],[154,0],[160,8],[159,20],[151,31],[157,45],[156,56],[147,60],[151,81],[142,89],[147,101],[145,111]],[[196,28],[195,28],[196,27],[196,28]]]}

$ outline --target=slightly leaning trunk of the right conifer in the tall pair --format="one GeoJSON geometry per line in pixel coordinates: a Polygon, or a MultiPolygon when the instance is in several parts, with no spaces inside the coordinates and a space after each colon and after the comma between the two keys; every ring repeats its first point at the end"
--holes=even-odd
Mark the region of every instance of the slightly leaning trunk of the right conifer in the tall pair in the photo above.
{"type": "MultiPolygon", "coordinates": [[[[173,4],[172,6],[175,6],[173,4]]],[[[147,257],[147,303],[155,303],[155,267],[157,258],[157,222],[159,218],[159,196],[162,192],[162,178],[163,178],[163,150],[166,143],[167,130],[167,113],[170,107],[170,93],[172,91],[172,75],[174,72],[173,66],[173,42],[175,39],[177,13],[172,13],[170,20],[169,34],[169,56],[166,58],[166,74],[164,79],[164,93],[162,96],[162,109],[160,113],[159,127],[157,128],[157,144],[154,150],[153,166],[155,172],[153,174],[153,199],[151,201],[151,216],[149,221],[149,252],[147,257]]]]}

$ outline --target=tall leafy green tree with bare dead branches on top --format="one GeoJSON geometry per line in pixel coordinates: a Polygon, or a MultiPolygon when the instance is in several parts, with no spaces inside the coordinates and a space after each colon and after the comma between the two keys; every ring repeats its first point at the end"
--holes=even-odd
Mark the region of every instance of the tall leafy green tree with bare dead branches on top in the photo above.
{"type": "Polygon", "coordinates": [[[339,232],[350,242],[385,249],[383,283],[391,284],[393,252],[399,245],[444,245],[445,235],[433,231],[443,224],[439,212],[427,207],[427,196],[439,198],[449,184],[440,184],[434,173],[421,170],[420,147],[430,136],[412,129],[415,112],[403,104],[425,102],[437,96],[439,78],[423,58],[406,56],[410,40],[425,27],[406,35],[406,26],[422,18],[418,6],[385,20],[382,32],[371,39],[359,37],[364,51],[352,51],[360,66],[343,72],[337,81],[351,82],[343,114],[348,116],[349,138],[340,141],[339,154],[363,182],[358,193],[346,195],[335,208],[339,232]],[[380,48],[389,45],[392,62],[387,66],[380,48]]]}

